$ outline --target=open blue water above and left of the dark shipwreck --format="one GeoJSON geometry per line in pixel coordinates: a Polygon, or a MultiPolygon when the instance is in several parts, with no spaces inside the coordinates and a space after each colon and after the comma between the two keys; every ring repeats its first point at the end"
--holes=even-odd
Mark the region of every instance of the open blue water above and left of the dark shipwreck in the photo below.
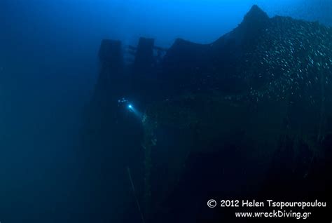
{"type": "Polygon", "coordinates": [[[102,39],[209,43],[253,4],[332,25],[324,0],[1,0],[0,222],[52,222],[70,212],[77,185],[69,173],[79,171],[78,132],[102,39]]]}

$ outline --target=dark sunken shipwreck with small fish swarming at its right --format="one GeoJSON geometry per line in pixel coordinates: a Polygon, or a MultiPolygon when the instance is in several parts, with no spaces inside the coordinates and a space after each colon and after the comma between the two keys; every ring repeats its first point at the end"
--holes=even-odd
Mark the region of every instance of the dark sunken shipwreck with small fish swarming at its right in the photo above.
{"type": "Polygon", "coordinates": [[[253,6],[213,43],[105,39],[99,62],[81,150],[95,215],[119,193],[137,222],[232,219],[209,198],[331,201],[331,27],[253,6]]]}

